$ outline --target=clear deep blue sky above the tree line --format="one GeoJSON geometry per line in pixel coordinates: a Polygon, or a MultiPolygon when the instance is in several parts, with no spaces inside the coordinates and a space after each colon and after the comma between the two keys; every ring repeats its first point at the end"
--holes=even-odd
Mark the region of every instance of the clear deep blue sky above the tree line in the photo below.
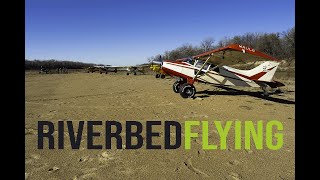
{"type": "Polygon", "coordinates": [[[25,59],[137,65],[209,37],[294,26],[294,0],[26,0],[25,59]]]}

